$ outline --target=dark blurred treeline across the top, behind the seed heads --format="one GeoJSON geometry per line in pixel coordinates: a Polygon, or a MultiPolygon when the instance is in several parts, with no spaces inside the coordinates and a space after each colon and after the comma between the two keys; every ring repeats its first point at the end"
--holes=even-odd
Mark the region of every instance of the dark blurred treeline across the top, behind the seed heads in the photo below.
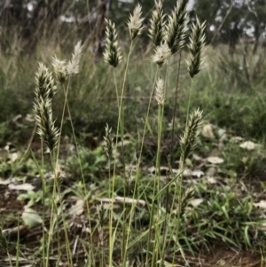
{"type": "MultiPolygon", "coordinates": [[[[176,4],[176,0],[162,2],[165,12],[176,4]]],[[[28,53],[40,42],[66,45],[72,38],[90,38],[98,50],[98,39],[104,35],[104,18],[122,27],[137,3],[143,6],[148,19],[153,0],[2,0],[1,51],[12,55],[28,53]]],[[[264,0],[190,0],[188,8],[192,20],[195,13],[200,20],[207,20],[207,41],[213,45],[225,43],[233,51],[239,38],[244,38],[253,43],[255,53],[259,41],[263,43],[264,0]]]]}

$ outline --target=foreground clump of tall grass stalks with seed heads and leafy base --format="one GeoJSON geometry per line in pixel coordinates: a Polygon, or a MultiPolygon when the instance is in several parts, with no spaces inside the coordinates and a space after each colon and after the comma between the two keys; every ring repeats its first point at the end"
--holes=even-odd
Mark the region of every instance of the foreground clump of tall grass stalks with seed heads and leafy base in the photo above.
{"type": "MultiPolygon", "coordinates": [[[[74,266],[72,260],[74,249],[72,249],[72,244],[69,241],[70,232],[66,224],[67,216],[62,212],[64,210],[64,200],[61,192],[61,180],[66,176],[62,170],[64,168],[59,164],[59,150],[61,149],[60,137],[65,109],[67,109],[69,114],[73,130],[74,145],[79,160],[78,167],[80,168],[80,171],[76,172],[81,180],[78,186],[82,188],[82,193],[80,193],[79,197],[82,202],[82,208],[85,210],[86,207],[86,212],[82,210],[82,213],[84,213],[86,227],[89,229],[86,232],[88,240],[83,242],[82,246],[86,250],[86,255],[92,259],[91,266],[96,266],[99,263],[100,266],[106,266],[108,264],[108,266],[112,267],[115,264],[114,259],[116,258],[119,258],[122,266],[127,266],[132,255],[141,255],[138,259],[140,266],[155,266],[157,264],[159,266],[165,266],[169,262],[172,262],[169,264],[174,265],[176,264],[177,254],[181,254],[184,262],[186,261],[183,241],[186,240],[187,247],[190,247],[193,240],[185,237],[184,233],[188,229],[187,222],[193,219],[194,209],[191,208],[190,212],[186,211],[198,192],[194,186],[184,188],[183,180],[186,162],[192,156],[200,140],[203,111],[201,108],[198,108],[191,112],[191,109],[194,110],[194,106],[191,108],[191,91],[193,90],[195,75],[200,73],[204,60],[202,57],[206,38],[204,34],[206,22],[200,24],[200,20],[197,19],[192,25],[192,34],[188,44],[191,60],[188,62],[188,72],[186,73],[187,77],[190,77],[189,80],[191,80],[191,87],[188,89],[190,98],[186,108],[187,116],[184,124],[184,134],[180,138],[175,138],[179,140],[178,153],[181,156],[180,161],[172,161],[172,147],[168,148],[168,167],[166,168],[165,177],[161,172],[161,143],[163,128],[166,125],[164,108],[166,102],[169,100],[168,87],[169,80],[171,79],[171,73],[168,67],[170,58],[177,51],[180,52],[179,64],[183,64],[181,51],[184,48],[186,30],[188,29],[186,10],[188,1],[180,0],[177,2],[171,16],[168,16],[166,25],[161,2],[155,1],[154,4],[155,9],[153,10],[148,29],[148,35],[155,45],[154,54],[152,55],[152,62],[155,63],[153,64],[153,86],[150,91],[149,105],[146,107],[144,130],[137,132],[135,129],[136,132],[134,134],[141,135],[141,142],[137,144],[139,146],[136,145],[136,154],[131,157],[137,163],[130,171],[128,165],[132,162],[128,163],[125,156],[126,153],[132,152],[127,150],[127,143],[125,142],[125,137],[128,132],[124,126],[124,122],[127,120],[124,113],[124,98],[127,95],[126,84],[129,79],[130,56],[135,49],[133,43],[136,42],[137,35],[145,34],[141,5],[137,4],[133,14],[129,16],[130,45],[128,57],[122,57],[121,55],[115,25],[111,20],[106,20],[106,49],[103,58],[112,67],[113,71],[113,83],[110,84],[113,84],[113,90],[116,91],[118,120],[116,129],[112,125],[112,128],[115,130],[114,137],[112,136],[111,126],[109,127],[106,123],[106,133],[103,137],[104,149],[98,153],[106,153],[107,157],[103,155],[102,159],[104,160],[102,161],[107,160],[108,164],[106,164],[106,169],[103,167],[103,170],[98,171],[100,176],[98,180],[95,179],[97,185],[91,186],[84,179],[84,177],[90,177],[90,174],[83,173],[84,168],[82,168],[80,157],[82,150],[75,138],[74,126],[67,100],[68,90],[71,84],[70,79],[73,78],[73,75],[77,75],[80,72],[80,60],[83,50],[82,43],[78,42],[75,45],[72,59],[68,62],[66,60],[60,60],[56,56],[51,59],[54,74],[51,74],[44,65],[40,64],[39,66],[36,74],[34,104],[35,119],[38,126],[37,133],[42,138],[43,143],[48,145],[51,152],[55,147],[58,147],[56,157],[51,153],[51,168],[55,179],[51,197],[50,225],[47,226],[49,227],[47,229],[48,234],[46,235],[44,233],[46,230],[43,230],[43,240],[48,244],[43,248],[45,249],[43,252],[43,266],[47,267],[49,264],[49,261],[46,259],[49,259],[55,248],[53,233],[59,231],[60,225],[63,225],[64,228],[66,261],[69,266],[74,266]],[[119,73],[119,65],[123,59],[125,59],[125,68],[122,70],[123,75],[121,75],[119,73]],[[51,101],[56,91],[53,75],[65,93],[59,129],[55,126],[51,111],[51,101]],[[116,82],[118,75],[122,77],[121,84],[116,82]],[[158,113],[151,115],[150,106],[153,101],[157,103],[154,106],[158,113]],[[151,126],[149,123],[151,118],[155,118],[155,126],[151,126]],[[145,145],[146,131],[148,128],[152,131],[153,127],[155,128],[154,136],[157,138],[157,144],[156,156],[150,163],[155,170],[153,175],[148,176],[145,173],[146,170],[142,169],[141,163],[144,161],[142,152],[145,145]],[[99,186],[100,188],[97,188],[93,193],[88,192],[88,188],[95,189],[94,186],[99,186]],[[97,236],[97,241],[95,241],[95,236],[97,236]],[[169,258],[171,261],[169,261],[169,258]]],[[[178,75],[179,70],[176,79],[176,90],[179,86],[178,75]]],[[[173,114],[173,118],[175,118],[175,115],[173,114]]],[[[172,134],[176,134],[173,130],[174,123],[171,127],[172,134]]],[[[77,168],[77,164],[74,167],[77,168]]],[[[42,173],[42,168],[39,169],[42,173]]],[[[88,164],[85,171],[90,172],[90,166],[88,167],[88,164]]],[[[49,191],[45,187],[44,179],[43,183],[43,194],[48,194],[49,191]]],[[[43,206],[44,202],[43,200],[43,206]]],[[[79,242],[79,240],[76,239],[75,242],[79,242]]],[[[61,247],[57,248],[59,252],[64,250],[61,247]]]]}

